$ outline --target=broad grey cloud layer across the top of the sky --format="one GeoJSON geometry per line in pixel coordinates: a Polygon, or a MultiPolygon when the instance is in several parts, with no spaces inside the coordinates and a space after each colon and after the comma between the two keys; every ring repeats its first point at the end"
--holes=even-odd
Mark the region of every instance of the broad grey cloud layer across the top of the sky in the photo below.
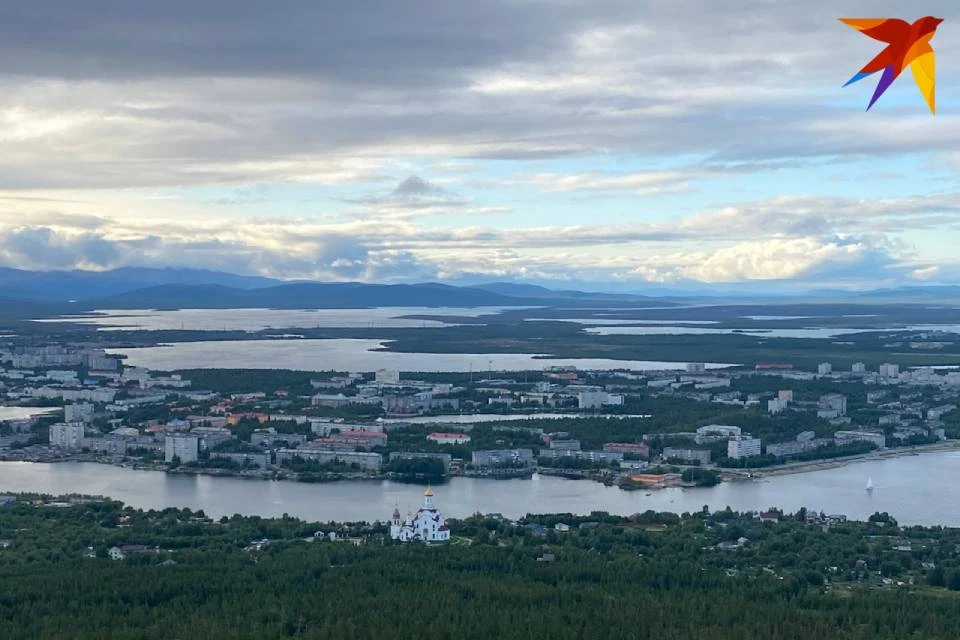
{"type": "MultiPolygon", "coordinates": [[[[950,59],[954,5],[925,10],[948,18],[936,45],[950,59]]],[[[407,157],[749,163],[955,148],[949,110],[837,106],[856,89],[842,93],[836,69],[875,46],[834,13],[826,0],[0,7],[0,189],[343,184],[407,157]]]]}

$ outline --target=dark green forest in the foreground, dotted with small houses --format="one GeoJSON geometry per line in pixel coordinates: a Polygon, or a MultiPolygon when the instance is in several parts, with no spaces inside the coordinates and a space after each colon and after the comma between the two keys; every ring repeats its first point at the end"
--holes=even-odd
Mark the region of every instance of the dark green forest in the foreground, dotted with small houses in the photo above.
{"type": "Polygon", "coordinates": [[[960,634],[960,532],[887,514],[764,519],[478,515],[424,546],[381,523],[18,496],[0,508],[0,638],[960,634]]]}

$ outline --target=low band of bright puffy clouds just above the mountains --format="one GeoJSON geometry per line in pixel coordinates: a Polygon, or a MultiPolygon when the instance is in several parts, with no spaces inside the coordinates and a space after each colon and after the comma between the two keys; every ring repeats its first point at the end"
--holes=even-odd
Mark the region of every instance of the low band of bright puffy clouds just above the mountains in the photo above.
{"type": "MultiPolygon", "coordinates": [[[[91,231],[82,218],[70,226],[71,217],[61,216],[50,226],[0,226],[0,262],[39,269],[175,262],[280,278],[364,281],[487,275],[637,283],[792,279],[854,286],[874,282],[880,274],[891,281],[937,279],[929,265],[911,264],[916,256],[910,245],[886,233],[783,232],[804,226],[819,230],[816,222],[797,221],[819,220],[830,210],[842,213],[840,201],[788,200],[780,203],[786,213],[779,216],[775,205],[744,203],[659,225],[512,229],[424,228],[410,216],[381,215],[340,223],[235,216],[202,222],[104,218],[91,231]],[[779,220],[779,226],[744,238],[745,225],[764,220],[779,220]]],[[[391,211],[386,204],[377,206],[391,211]]],[[[891,215],[928,208],[909,201],[886,206],[891,215]]],[[[849,226],[858,220],[851,215],[849,226]]]]}

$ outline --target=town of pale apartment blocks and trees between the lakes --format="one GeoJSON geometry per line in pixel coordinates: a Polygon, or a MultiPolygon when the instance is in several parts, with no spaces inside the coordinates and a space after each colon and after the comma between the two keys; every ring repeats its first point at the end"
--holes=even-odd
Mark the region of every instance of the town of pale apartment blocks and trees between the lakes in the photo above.
{"type": "Polygon", "coordinates": [[[0,366],[14,412],[0,414],[0,459],[177,473],[433,482],[541,473],[653,489],[960,437],[960,371],[889,363],[184,377],[125,366],[89,344],[8,343],[0,366]]]}

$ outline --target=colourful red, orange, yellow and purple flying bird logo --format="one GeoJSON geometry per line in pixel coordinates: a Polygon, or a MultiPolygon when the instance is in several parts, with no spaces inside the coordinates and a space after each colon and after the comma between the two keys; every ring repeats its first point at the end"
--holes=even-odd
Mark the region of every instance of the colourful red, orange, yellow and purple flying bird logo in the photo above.
{"type": "Polygon", "coordinates": [[[870,104],[867,105],[867,111],[893,84],[907,65],[910,65],[913,79],[927,101],[930,113],[937,112],[934,101],[936,57],[933,54],[933,47],[930,46],[930,39],[943,22],[942,18],[927,16],[913,24],[895,18],[840,18],[840,22],[850,25],[874,40],[887,43],[887,47],[877,54],[876,58],[868,62],[857,75],[843,85],[853,84],[877,71],[883,71],[877,90],[873,92],[870,104]]]}

